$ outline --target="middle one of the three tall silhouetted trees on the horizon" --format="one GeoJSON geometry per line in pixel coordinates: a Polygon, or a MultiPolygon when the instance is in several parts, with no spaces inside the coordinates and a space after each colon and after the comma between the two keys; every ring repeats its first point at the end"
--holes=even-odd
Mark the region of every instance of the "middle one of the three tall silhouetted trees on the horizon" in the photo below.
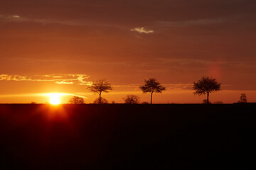
{"type": "Polygon", "coordinates": [[[154,93],[161,93],[161,91],[165,91],[166,88],[162,86],[156,79],[150,78],[148,80],[144,80],[145,84],[144,86],[139,86],[139,89],[143,91],[144,94],[150,93],[151,94],[151,100],[150,104],[152,104],[152,96],[154,93]]]}

